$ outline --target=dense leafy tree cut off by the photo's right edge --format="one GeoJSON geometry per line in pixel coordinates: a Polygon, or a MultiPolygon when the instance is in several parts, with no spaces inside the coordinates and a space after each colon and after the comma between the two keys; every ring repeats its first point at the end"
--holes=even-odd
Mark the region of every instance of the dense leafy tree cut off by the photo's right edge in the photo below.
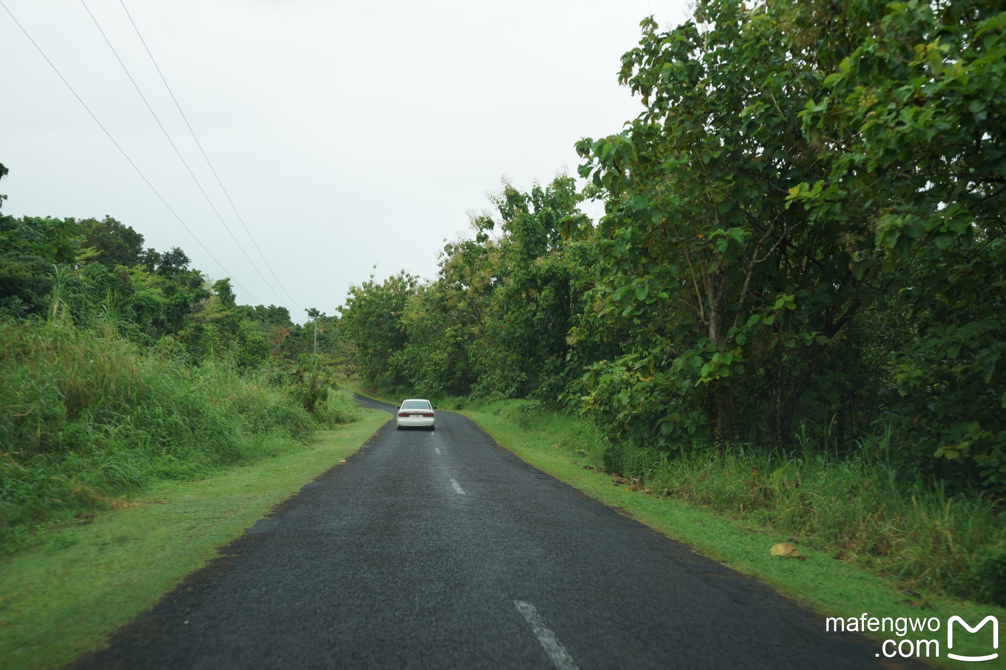
{"type": "Polygon", "coordinates": [[[851,2],[866,36],[811,96],[829,171],[791,198],[865,222],[910,313],[893,409],[937,456],[1006,487],[1006,5],[851,2]]]}

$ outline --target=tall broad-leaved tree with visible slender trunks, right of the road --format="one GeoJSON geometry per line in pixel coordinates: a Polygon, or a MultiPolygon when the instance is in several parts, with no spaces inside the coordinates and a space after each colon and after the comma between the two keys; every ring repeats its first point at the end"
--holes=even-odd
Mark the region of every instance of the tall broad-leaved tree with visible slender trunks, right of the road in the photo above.
{"type": "Polygon", "coordinates": [[[753,428],[784,446],[831,343],[870,301],[864,228],[787,201],[823,174],[799,114],[836,58],[817,48],[837,28],[819,22],[824,4],[702,2],[668,32],[647,19],[621,74],[645,110],[577,145],[580,174],[608,193],[588,323],[637,334],[585,378],[609,425],[649,420],[672,445],[707,423],[720,441],[753,428]]]}

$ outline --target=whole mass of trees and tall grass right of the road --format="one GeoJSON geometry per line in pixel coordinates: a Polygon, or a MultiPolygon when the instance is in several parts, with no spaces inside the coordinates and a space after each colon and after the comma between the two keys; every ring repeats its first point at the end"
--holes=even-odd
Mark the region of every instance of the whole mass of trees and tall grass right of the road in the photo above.
{"type": "Polygon", "coordinates": [[[355,367],[527,399],[629,487],[1006,603],[1004,30],[975,0],[645,19],[585,185],[505,185],[437,277],[351,287],[355,367]]]}

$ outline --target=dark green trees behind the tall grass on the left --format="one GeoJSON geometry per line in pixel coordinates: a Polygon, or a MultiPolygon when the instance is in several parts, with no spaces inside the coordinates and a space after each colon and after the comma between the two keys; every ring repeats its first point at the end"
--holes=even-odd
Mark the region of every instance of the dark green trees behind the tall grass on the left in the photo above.
{"type": "MultiPolygon", "coordinates": [[[[144,248],[144,237],[112,217],[0,217],[0,315],[46,317],[53,296],[78,326],[111,323],[153,346],[168,337],[192,363],[212,353],[256,368],[295,361],[313,348],[313,324],[285,306],[237,304],[229,278],[211,281],[180,248],[144,248]]],[[[322,351],[336,352],[334,327],[317,310],[322,351]]],[[[334,320],[331,321],[334,326],[334,320]]]]}

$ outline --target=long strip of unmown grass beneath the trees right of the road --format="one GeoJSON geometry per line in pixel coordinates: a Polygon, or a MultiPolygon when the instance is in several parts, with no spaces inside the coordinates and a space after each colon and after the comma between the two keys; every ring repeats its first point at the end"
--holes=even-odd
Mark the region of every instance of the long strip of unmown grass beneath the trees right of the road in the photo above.
{"type": "Polygon", "coordinates": [[[710,508],[836,557],[979,602],[1006,604],[1006,508],[978,491],[951,493],[891,458],[883,429],[838,453],[805,430],[797,453],[753,446],[660,452],[606,440],[591,422],[508,401],[470,409],[539,431],[644,493],[710,508]]]}

